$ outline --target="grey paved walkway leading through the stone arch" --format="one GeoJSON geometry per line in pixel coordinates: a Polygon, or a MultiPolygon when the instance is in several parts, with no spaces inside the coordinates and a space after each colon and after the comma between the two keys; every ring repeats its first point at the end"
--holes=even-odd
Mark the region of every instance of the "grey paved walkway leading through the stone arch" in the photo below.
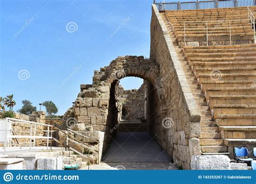
{"type": "Polygon", "coordinates": [[[176,169],[170,163],[169,155],[148,132],[120,132],[103,162],[90,169],[176,169]]]}

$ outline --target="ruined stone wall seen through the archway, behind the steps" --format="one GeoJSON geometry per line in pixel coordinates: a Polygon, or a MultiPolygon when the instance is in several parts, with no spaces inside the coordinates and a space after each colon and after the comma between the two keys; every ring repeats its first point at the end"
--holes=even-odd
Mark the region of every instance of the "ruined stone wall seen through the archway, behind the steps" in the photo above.
{"type": "Polygon", "coordinates": [[[145,90],[145,83],[139,89],[124,90],[121,87],[118,90],[118,121],[145,119],[145,90]]]}

